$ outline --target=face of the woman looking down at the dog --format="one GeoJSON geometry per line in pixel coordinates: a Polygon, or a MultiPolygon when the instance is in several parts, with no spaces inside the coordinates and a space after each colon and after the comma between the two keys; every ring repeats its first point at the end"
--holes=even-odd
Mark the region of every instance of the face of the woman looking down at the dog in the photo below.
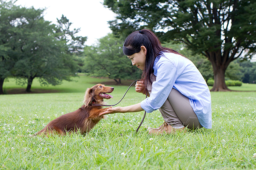
{"type": "Polygon", "coordinates": [[[141,50],[139,52],[127,57],[131,60],[133,66],[136,66],[141,70],[144,70],[146,62],[146,52],[146,48],[144,46],[141,46],[141,50]]]}

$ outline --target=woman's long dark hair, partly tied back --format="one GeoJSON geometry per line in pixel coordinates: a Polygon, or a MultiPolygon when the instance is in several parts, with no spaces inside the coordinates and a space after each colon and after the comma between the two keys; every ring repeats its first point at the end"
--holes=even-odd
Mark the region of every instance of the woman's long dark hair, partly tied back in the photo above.
{"type": "Polygon", "coordinates": [[[148,87],[149,83],[152,84],[151,74],[154,73],[153,66],[156,57],[160,57],[162,52],[179,53],[170,48],[162,47],[158,37],[148,29],[142,29],[131,33],[125,39],[123,44],[123,53],[126,56],[131,56],[134,53],[139,52],[141,50],[141,46],[145,46],[147,50],[142,80],[144,81],[145,87],[148,87]]]}

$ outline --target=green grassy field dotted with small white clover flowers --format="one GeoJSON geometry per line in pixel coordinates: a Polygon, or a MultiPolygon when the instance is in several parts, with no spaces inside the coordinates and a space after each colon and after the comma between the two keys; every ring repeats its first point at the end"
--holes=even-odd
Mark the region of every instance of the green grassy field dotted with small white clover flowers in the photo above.
{"type": "MultiPolygon", "coordinates": [[[[211,93],[212,129],[148,135],[148,126],[163,122],[155,111],[146,115],[138,133],[143,112],[108,115],[87,135],[30,137],[50,120],[79,108],[88,87],[113,84],[85,76],[75,80],[56,87],[35,81],[31,89],[58,93],[0,95],[0,169],[256,169],[256,92],[211,93]]],[[[13,79],[4,85],[6,92],[20,88],[13,79]]],[[[108,104],[117,103],[127,89],[112,86],[114,98],[108,104]]],[[[256,85],[233,88],[256,91],[256,85]]],[[[142,100],[132,87],[119,106],[142,100]]]]}

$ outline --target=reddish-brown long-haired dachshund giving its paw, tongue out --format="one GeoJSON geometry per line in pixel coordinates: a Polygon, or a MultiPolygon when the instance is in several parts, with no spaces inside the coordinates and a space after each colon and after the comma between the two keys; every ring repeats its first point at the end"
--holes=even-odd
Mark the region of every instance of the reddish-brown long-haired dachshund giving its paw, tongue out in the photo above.
{"type": "Polygon", "coordinates": [[[80,132],[81,134],[89,132],[104,116],[99,116],[108,108],[94,106],[93,104],[103,104],[103,99],[110,99],[114,87],[107,87],[102,84],[94,85],[85,91],[83,106],[74,112],[63,114],[52,120],[44,129],[35,135],[59,134],[65,135],[71,132],[80,132]]]}

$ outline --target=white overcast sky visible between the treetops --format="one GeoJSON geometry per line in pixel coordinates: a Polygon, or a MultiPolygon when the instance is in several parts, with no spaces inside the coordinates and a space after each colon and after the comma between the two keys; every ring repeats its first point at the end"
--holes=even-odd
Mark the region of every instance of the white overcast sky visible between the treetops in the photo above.
{"type": "Polygon", "coordinates": [[[80,28],[79,36],[87,36],[85,45],[91,46],[112,31],[107,21],[115,19],[115,14],[102,3],[104,0],[18,0],[15,4],[35,9],[47,8],[44,19],[57,23],[62,14],[73,23],[71,28],[80,28]]]}

